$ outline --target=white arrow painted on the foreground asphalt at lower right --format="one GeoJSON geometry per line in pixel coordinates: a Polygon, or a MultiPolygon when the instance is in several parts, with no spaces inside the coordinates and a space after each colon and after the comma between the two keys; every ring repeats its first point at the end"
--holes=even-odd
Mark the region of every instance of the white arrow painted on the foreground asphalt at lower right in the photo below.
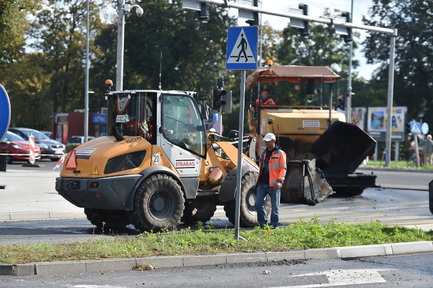
{"type": "Polygon", "coordinates": [[[328,270],[323,272],[315,272],[308,274],[293,275],[288,277],[304,277],[304,276],[319,276],[325,275],[328,283],[296,285],[296,286],[280,286],[269,288],[314,288],[314,287],[332,287],[366,283],[383,283],[386,280],[379,274],[378,271],[391,269],[350,269],[350,270],[328,270]]]}

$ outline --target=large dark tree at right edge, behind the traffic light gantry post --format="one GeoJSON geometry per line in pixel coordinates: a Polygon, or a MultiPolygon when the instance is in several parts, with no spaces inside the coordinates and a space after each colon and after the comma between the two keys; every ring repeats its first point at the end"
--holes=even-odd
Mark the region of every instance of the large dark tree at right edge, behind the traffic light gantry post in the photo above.
{"type": "MultiPolygon", "coordinates": [[[[407,106],[409,119],[417,118],[419,112],[427,112],[424,121],[433,121],[429,109],[433,106],[431,1],[374,0],[368,13],[369,18],[362,19],[364,24],[397,28],[394,105],[407,106]]],[[[370,32],[362,51],[367,63],[381,63],[371,82],[376,90],[385,92],[388,84],[389,36],[370,32]]]]}

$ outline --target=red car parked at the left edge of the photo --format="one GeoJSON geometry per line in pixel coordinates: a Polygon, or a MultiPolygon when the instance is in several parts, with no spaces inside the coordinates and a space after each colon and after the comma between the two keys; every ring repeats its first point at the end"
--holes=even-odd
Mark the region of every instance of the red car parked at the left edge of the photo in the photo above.
{"type": "MultiPolygon", "coordinates": [[[[21,136],[16,135],[10,131],[6,132],[5,138],[0,142],[0,150],[9,150],[9,154],[24,154],[24,155],[9,155],[8,164],[13,161],[27,161],[29,162],[28,154],[30,148],[28,147],[28,141],[24,140],[21,136]]],[[[35,144],[35,160],[41,158],[41,149],[35,144]]]]}

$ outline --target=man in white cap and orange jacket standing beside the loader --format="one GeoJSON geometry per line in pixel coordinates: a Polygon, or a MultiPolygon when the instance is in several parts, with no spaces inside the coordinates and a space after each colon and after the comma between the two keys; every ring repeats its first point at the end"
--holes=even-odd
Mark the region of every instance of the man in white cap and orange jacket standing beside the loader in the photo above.
{"type": "Polygon", "coordinates": [[[263,140],[265,141],[266,149],[260,155],[259,177],[256,184],[257,221],[260,228],[267,225],[268,219],[264,204],[266,196],[269,195],[271,199],[270,225],[273,229],[276,229],[280,219],[281,187],[287,171],[286,153],[281,150],[280,146],[275,144],[276,138],[274,134],[266,134],[263,140]]]}

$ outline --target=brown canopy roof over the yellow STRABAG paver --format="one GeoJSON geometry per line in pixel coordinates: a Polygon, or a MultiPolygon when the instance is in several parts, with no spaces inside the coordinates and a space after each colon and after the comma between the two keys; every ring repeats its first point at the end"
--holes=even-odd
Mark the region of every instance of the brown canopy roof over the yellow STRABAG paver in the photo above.
{"type": "Polygon", "coordinates": [[[342,77],[335,74],[327,66],[268,66],[259,67],[246,78],[246,87],[253,86],[254,82],[270,83],[278,81],[287,81],[291,83],[307,83],[311,79],[315,83],[336,82],[342,77]]]}

